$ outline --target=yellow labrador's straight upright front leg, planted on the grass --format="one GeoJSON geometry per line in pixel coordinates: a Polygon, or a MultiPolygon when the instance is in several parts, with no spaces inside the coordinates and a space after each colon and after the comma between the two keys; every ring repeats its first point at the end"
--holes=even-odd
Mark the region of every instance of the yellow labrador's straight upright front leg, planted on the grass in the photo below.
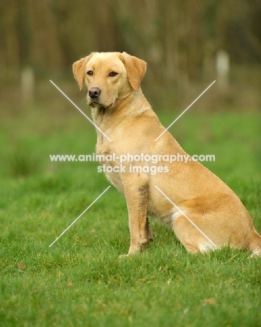
{"type": "Polygon", "coordinates": [[[130,249],[128,254],[140,252],[142,245],[149,241],[147,203],[149,184],[147,175],[133,174],[124,178],[124,195],[128,208],[128,226],[130,228],[130,249]]]}

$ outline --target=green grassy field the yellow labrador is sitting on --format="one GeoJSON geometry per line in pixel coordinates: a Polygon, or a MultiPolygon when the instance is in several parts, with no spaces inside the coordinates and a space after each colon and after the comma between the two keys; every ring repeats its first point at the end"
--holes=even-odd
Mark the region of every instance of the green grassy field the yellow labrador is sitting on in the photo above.
{"type": "MultiPolygon", "coordinates": [[[[97,163],[49,159],[94,152],[94,127],[74,110],[0,121],[0,326],[261,326],[261,259],[227,248],[188,254],[153,220],[154,242],[119,258],[128,215],[113,187],[49,248],[109,185],[97,163]]],[[[187,112],[171,132],[189,154],[215,154],[205,166],[261,232],[260,115],[187,112]]]]}

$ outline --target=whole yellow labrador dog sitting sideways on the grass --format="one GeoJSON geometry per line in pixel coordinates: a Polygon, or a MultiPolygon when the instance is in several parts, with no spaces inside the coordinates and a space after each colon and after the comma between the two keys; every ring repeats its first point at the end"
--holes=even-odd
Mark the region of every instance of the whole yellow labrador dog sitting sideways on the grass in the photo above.
{"type": "Polygon", "coordinates": [[[126,52],[93,52],[73,64],[80,91],[87,85],[98,126],[96,154],[108,180],[126,198],[128,254],[152,240],[151,215],[171,226],[188,252],[230,245],[261,255],[261,236],[236,194],[189,157],[168,131],[163,133],[140,89],[145,72],[145,61],[126,52]],[[179,161],[167,161],[173,156],[179,161]]]}

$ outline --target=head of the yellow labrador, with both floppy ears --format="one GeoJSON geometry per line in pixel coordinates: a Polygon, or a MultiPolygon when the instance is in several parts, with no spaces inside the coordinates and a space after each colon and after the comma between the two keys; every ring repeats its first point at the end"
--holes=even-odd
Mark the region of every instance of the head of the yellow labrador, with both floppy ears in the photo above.
{"type": "Polygon", "coordinates": [[[133,89],[140,89],[145,72],[146,62],[126,52],[93,52],[73,64],[80,91],[85,81],[91,107],[114,108],[133,89]]]}

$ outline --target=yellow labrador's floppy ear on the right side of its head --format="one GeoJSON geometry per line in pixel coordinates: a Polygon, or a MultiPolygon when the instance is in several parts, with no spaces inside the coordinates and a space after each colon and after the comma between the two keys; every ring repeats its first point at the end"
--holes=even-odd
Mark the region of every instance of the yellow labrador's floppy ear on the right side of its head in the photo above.
{"type": "Polygon", "coordinates": [[[126,52],[123,52],[121,55],[127,71],[128,81],[131,87],[133,87],[135,91],[138,91],[140,89],[140,83],[146,73],[147,64],[142,59],[130,56],[130,54],[126,52]]]}

